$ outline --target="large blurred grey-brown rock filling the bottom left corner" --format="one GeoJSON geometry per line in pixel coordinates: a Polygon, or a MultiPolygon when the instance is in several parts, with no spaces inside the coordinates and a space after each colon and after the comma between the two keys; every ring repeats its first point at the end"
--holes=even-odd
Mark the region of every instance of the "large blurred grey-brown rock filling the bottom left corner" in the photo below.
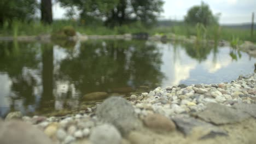
{"type": "Polygon", "coordinates": [[[0,122],[1,144],[53,143],[43,131],[26,122],[11,120],[0,122]]]}

